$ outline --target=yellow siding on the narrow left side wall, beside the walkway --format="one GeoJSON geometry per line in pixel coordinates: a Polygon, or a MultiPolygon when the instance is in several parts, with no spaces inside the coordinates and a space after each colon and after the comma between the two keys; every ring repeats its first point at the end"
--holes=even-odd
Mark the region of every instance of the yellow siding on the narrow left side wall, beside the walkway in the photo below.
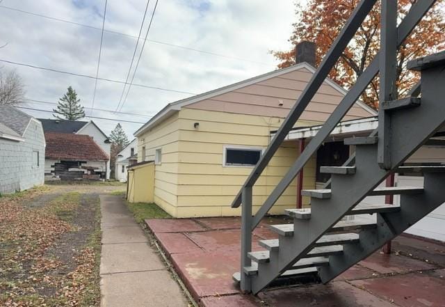
{"type": "Polygon", "coordinates": [[[162,150],[162,163],[155,167],[154,203],[173,217],[177,215],[178,139],[178,113],[138,136],[138,162],[154,161],[155,150],[158,148],[162,150]],[[143,146],[145,146],[145,159],[142,157],[143,146]]]}

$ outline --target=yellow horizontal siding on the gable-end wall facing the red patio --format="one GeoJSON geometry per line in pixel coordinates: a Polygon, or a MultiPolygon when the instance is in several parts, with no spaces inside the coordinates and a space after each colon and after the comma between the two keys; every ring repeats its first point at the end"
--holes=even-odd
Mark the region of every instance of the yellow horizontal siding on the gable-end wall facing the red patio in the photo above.
{"type": "MultiPolygon", "coordinates": [[[[177,214],[175,217],[220,217],[240,215],[230,208],[251,167],[223,166],[224,145],[266,148],[270,131],[280,127],[281,118],[183,108],[179,112],[177,152],[177,214]],[[200,123],[195,129],[193,123],[200,123]]],[[[299,122],[312,125],[314,122],[299,122]]],[[[280,182],[298,157],[298,144],[287,142],[277,150],[253,189],[254,212],[280,182]]],[[[163,160],[164,161],[164,160],[163,160]]],[[[316,159],[305,167],[305,189],[315,187],[316,159]]],[[[308,199],[303,198],[303,205],[308,199]]],[[[284,191],[272,214],[296,206],[296,180],[284,191]]]]}

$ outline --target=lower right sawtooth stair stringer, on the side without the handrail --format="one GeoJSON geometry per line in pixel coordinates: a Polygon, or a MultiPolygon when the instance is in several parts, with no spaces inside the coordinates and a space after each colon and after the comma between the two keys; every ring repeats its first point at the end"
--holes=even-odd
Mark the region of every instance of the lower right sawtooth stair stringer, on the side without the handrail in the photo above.
{"type": "Polygon", "coordinates": [[[445,203],[445,174],[426,173],[424,178],[423,194],[401,195],[400,212],[377,214],[377,228],[362,230],[359,244],[344,245],[343,255],[332,255],[329,266],[319,267],[318,274],[323,283],[368,257],[445,203]]]}

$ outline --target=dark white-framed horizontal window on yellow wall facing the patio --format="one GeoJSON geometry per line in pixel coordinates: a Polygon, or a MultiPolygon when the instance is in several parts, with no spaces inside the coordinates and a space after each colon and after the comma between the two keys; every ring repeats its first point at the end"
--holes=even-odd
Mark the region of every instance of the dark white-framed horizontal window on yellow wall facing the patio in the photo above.
{"type": "Polygon", "coordinates": [[[261,157],[261,148],[232,147],[224,148],[224,166],[255,166],[261,157]]]}

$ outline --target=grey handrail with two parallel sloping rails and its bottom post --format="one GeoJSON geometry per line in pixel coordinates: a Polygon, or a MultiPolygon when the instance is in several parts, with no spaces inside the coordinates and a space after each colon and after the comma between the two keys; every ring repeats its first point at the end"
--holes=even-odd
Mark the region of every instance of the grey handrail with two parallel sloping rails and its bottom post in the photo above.
{"type": "MultiPolygon", "coordinates": [[[[407,13],[401,24],[397,27],[396,31],[396,48],[399,48],[405,38],[410,34],[412,29],[420,22],[423,15],[425,15],[431,6],[437,0],[423,0],[416,1],[410,12],[407,13]]],[[[316,150],[325,141],[327,136],[330,135],[334,127],[341,121],[343,116],[349,111],[353,104],[359,99],[359,96],[363,93],[366,87],[371,83],[373,78],[378,74],[380,70],[380,52],[373,58],[373,61],[369,64],[366,70],[360,75],[356,83],[348,90],[348,93],[343,97],[343,100],[339,103],[337,108],[331,113],[330,117],[326,120],[320,131],[314,136],[312,141],[309,142],[305,150],[296,159],[289,171],[284,175],[280,183],[277,184],[270,196],[266,199],[265,203],[260,207],[257,214],[252,217],[252,187],[257,182],[259,176],[264,171],[270,159],[280,147],[282,141],[284,141],[289,131],[293,128],[298,118],[300,118],[303,111],[305,111],[307,105],[314,97],[318,88],[325,81],[327,74],[330,72],[335,63],[337,63],[339,57],[343,53],[344,49],[353,38],[355,32],[362,24],[366,16],[373,8],[376,0],[362,0],[355,8],[353,14],[349,17],[346,25],[343,27],[341,33],[332,44],[332,47],[327,52],[321,65],[318,67],[312,79],[307,84],[305,90],[302,92],[298,101],[293,106],[288,116],[284,120],[280,129],[273,137],[272,141],[266,148],[266,151],[261,158],[257,166],[254,167],[252,173],[250,173],[248,179],[243,184],[241,191],[238,192],[236,198],[232,203],[232,207],[239,207],[243,203],[242,207],[242,223],[241,223],[241,289],[250,290],[250,285],[246,281],[245,274],[243,274],[243,267],[250,265],[250,259],[248,258],[248,252],[251,250],[252,243],[252,230],[257,227],[261,219],[267,214],[270,208],[275,204],[277,199],[282,195],[284,190],[289,187],[292,180],[302,170],[303,166],[307,164],[309,159],[314,155],[316,150]],[[243,199],[241,199],[243,198],[243,199]]]]}

